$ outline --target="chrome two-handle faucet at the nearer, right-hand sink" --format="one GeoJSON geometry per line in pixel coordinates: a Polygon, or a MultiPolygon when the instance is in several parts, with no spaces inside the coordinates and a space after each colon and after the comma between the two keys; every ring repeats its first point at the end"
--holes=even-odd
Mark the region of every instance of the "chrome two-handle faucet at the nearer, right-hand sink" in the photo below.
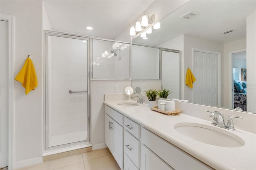
{"type": "Polygon", "coordinates": [[[226,128],[228,130],[236,130],[234,127],[233,119],[243,119],[242,117],[239,116],[228,116],[228,123],[225,125],[224,122],[224,115],[218,111],[206,111],[210,113],[210,117],[212,117],[212,125],[221,127],[221,128],[226,128]]]}

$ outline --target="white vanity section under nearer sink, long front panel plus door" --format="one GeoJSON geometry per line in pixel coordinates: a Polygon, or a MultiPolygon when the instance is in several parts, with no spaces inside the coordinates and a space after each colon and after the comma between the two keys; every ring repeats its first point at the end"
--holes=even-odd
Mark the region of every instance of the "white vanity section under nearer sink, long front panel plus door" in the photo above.
{"type": "Polygon", "coordinates": [[[146,128],[140,130],[141,142],[141,170],[149,170],[152,164],[152,158],[156,157],[156,167],[165,167],[165,162],[170,166],[167,169],[182,169],[182,170],[212,170],[209,166],[200,162],[196,158],[188,155],[186,152],[180,150],[176,146],[170,144],[166,140],[160,138],[156,134],[150,132],[146,128]],[[144,148],[146,146],[146,148],[144,148]],[[148,150],[146,150],[148,149],[148,150]],[[146,150],[146,151],[145,151],[146,150]],[[150,154],[150,151],[152,152],[150,154]],[[149,157],[147,157],[147,155],[149,157]],[[144,158],[146,156],[146,158],[144,158]],[[148,167],[148,168],[147,168],[148,167]]]}

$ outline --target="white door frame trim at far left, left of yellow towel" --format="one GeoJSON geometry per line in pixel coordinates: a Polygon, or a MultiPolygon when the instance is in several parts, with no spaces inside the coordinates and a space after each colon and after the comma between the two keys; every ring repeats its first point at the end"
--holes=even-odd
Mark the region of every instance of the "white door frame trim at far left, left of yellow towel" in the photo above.
{"type": "Polygon", "coordinates": [[[0,14],[1,20],[8,21],[8,169],[14,165],[14,16],[0,14]]]}

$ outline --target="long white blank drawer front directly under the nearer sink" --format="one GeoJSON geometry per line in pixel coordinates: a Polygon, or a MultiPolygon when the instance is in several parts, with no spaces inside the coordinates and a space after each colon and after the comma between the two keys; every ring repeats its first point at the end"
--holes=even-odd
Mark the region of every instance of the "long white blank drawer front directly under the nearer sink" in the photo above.
{"type": "Polygon", "coordinates": [[[141,128],[140,131],[140,142],[145,144],[172,168],[182,170],[212,170],[209,166],[200,162],[196,158],[193,158],[186,152],[180,150],[146,128],[141,128]]]}

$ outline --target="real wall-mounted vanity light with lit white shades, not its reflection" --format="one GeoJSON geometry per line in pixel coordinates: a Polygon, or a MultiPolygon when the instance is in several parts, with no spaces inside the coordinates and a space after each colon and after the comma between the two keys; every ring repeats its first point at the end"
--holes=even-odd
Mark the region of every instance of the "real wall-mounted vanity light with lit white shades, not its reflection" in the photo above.
{"type": "MultiPolygon", "coordinates": [[[[143,32],[144,30],[150,28],[152,24],[154,24],[154,14],[152,14],[152,16],[148,16],[148,12],[146,11],[143,12],[143,14],[136,19],[135,24],[134,23],[131,24],[130,36],[136,36],[140,34],[140,32],[143,32]]],[[[150,32],[150,30],[148,31],[150,32]]]]}

